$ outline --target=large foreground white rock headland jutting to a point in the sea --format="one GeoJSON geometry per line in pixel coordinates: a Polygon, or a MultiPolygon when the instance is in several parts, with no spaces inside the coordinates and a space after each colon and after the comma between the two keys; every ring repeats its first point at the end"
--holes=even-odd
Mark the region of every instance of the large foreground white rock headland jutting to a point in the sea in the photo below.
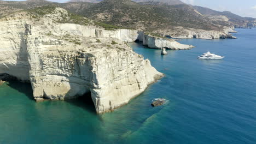
{"type": "Polygon", "coordinates": [[[27,49],[37,100],[64,100],[90,92],[97,113],[103,113],[127,104],[162,76],[148,59],[117,39],[100,38],[101,43],[90,48],[86,41],[96,38],[82,39],[81,46],[37,46],[32,35],[27,49]],[[115,40],[118,48],[107,46],[109,40],[115,40]]]}

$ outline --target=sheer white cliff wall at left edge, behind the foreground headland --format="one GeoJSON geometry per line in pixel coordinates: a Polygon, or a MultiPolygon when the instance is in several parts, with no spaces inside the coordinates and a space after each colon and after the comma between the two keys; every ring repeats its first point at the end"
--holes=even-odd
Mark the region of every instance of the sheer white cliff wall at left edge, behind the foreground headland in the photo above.
{"type": "Polygon", "coordinates": [[[26,43],[24,41],[25,20],[0,20],[0,74],[7,73],[19,77],[22,81],[29,80],[26,43]],[[21,24],[22,23],[22,24],[21,24]]]}

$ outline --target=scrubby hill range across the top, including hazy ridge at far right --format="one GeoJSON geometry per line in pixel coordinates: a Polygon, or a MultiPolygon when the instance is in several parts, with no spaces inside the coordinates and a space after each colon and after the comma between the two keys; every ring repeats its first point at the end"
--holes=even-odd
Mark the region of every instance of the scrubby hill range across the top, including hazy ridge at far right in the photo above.
{"type": "MultiPolygon", "coordinates": [[[[232,14],[229,11],[220,12],[220,11],[216,11],[216,10],[212,10],[204,7],[199,7],[199,6],[193,6],[193,7],[191,7],[191,5],[184,6],[185,4],[179,0],[133,0],[139,3],[140,5],[138,4],[136,5],[135,3],[132,3],[132,2],[123,2],[124,0],[120,0],[116,2],[115,0],[106,0],[106,2],[105,1],[101,2],[101,1],[102,0],[71,0],[67,3],[56,3],[56,2],[49,2],[45,0],[28,0],[28,1],[22,1],[22,2],[0,1],[0,17],[7,15],[9,13],[14,13],[15,11],[19,11],[22,9],[32,9],[36,7],[42,7],[45,5],[56,5],[58,7],[65,8],[69,11],[72,11],[72,13],[77,13],[86,17],[91,17],[92,19],[100,20],[102,22],[107,22],[109,24],[123,26],[123,27],[127,27],[127,26],[132,27],[131,25],[134,25],[133,21],[134,22],[138,21],[139,22],[138,26],[141,26],[141,22],[144,21],[143,20],[144,17],[142,16],[146,16],[146,19],[148,19],[150,22],[153,22],[153,26],[156,26],[156,25],[164,26],[165,23],[169,23],[169,25],[172,25],[172,26],[185,26],[189,28],[201,28],[201,29],[213,29],[213,30],[220,28],[217,25],[221,25],[221,26],[232,25],[237,28],[238,27],[247,28],[247,27],[256,26],[256,19],[253,19],[251,17],[241,17],[238,15],[232,14]],[[113,5],[109,5],[110,3],[112,3],[113,5]],[[180,4],[183,6],[181,6],[180,4]],[[120,14],[115,14],[115,11],[114,10],[112,11],[112,9],[110,8],[115,8],[115,10],[120,11],[120,14]],[[122,9],[122,8],[125,8],[125,9],[122,9]],[[131,11],[127,11],[127,10],[131,10],[131,11]],[[199,13],[197,13],[197,11],[199,13]],[[104,16],[105,18],[101,17],[101,15],[104,13],[108,15],[107,17],[104,16]],[[137,14],[133,15],[134,13],[137,13],[137,14]],[[163,14],[163,13],[166,13],[166,14],[163,14]],[[180,13],[180,14],[177,14],[177,13],[180,13]],[[198,16],[198,14],[199,15],[202,14],[202,15],[198,16]],[[142,15],[142,16],[139,17],[139,15],[142,15]],[[96,17],[94,18],[94,16],[96,17]],[[113,18],[110,19],[109,16],[113,18]],[[149,16],[152,16],[156,19],[153,19],[154,21],[152,21],[152,17],[150,18],[149,16]],[[182,19],[177,18],[177,16],[182,16],[181,17],[182,19]],[[124,22],[124,20],[122,20],[121,23],[119,23],[115,20],[115,17],[118,17],[118,18],[123,17],[124,19],[127,19],[127,22],[124,22]],[[206,19],[206,17],[208,19],[206,19]],[[164,20],[164,22],[159,23],[160,21],[158,21],[158,19],[162,19],[164,20]],[[194,23],[194,25],[191,25],[191,23],[194,23]]],[[[145,23],[146,27],[148,27],[147,23],[148,21],[146,21],[145,23]]],[[[137,22],[136,22],[136,25],[137,25],[137,22]]],[[[137,28],[138,26],[134,26],[133,28],[137,28]]],[[[142,29],[144,29],[143,27],[145,26],[142,25],[142,29]]],[[[149,28],[149,29],[152,29],[152,28],[149,28]]]]}

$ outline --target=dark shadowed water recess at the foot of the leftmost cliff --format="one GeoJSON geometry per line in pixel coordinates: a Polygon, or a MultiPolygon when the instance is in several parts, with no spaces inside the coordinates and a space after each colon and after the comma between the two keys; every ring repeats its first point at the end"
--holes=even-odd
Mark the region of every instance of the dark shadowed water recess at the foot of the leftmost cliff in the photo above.
{"type": "Polygon", "coordinates": [[[18,80],[8,80],[7,85],[20,93],[24,93],[30,100],[34,100],[33,90],[30,83],[20,82],[18,80]]]}

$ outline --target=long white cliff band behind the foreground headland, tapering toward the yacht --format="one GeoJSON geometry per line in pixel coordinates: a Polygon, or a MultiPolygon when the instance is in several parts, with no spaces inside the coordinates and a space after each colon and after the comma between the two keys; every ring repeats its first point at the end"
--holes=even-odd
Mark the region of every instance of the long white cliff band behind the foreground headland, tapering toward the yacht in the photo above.
{"type": "Polygon", "coordinates": [[[133,29],[117,29],[115,31],[106,31],[95,26],[81,26],[75,25],[73,23],[63,23],[60,25],[60,28],[62,31],[68,31],[69,33],[83,37],[117,38],[127,43],[136,40],[142,41],[143,45],[146,45],[152,49],[162,49],[162,47],[165,47],[166,49],[171,50],[188,50],[194,47],[192,45],[180,44],[172,39],[156,37],[133,29]]]}

